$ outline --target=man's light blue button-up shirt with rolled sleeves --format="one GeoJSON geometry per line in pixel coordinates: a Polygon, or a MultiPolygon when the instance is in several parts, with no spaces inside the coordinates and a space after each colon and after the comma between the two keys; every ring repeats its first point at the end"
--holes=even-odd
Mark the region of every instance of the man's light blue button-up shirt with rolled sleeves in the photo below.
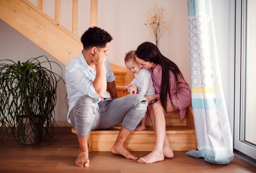
{"type": "MultiPolygon", "coordinates": [[[[105,61],[105,72],[107,77],[107,82],[113,82],[115,80],[115,76],[109,66],[109,61],[106,58],[105,61]]],[[[67,87],[67,98],[68,104],[70,105],[67,113],[67,121],[70,122],[70,111],[75,106],[76,101],[83,95],[88,95],[91,98],[94,98],[95,103],[99,103],[101,98],[99,94],[95,91],[93,87],[93,81],[96,77],[96,70],[90,68],[87,64],[83,53],[81,52],[73,60],[70,60],[67,63],[65,69],[65,81],[67,87]]],[[[109,93],[106,91],[104,94],[105,100],[110,99],[109,93]]]]}

